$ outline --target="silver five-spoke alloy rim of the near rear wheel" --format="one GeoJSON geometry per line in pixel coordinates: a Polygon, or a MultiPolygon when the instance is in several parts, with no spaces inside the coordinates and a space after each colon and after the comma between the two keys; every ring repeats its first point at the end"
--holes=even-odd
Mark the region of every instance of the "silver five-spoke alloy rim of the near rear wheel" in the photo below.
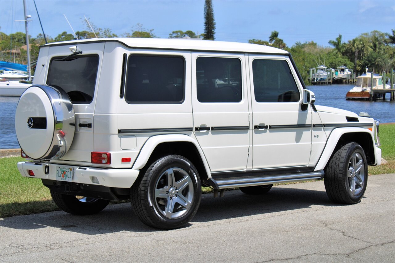
{"type": "Polygon", "coordinates": [[[154,189],[156,210],[166,218],[179,218],[192,207],[194,185],[183,169],[173,167],[163,172],[154,189]]]}

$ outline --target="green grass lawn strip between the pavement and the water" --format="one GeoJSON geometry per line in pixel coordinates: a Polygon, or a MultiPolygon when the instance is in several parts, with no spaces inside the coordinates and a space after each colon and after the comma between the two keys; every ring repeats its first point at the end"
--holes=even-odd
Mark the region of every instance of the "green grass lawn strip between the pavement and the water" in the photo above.
{"type": "MultiPolygon", "coordinates": [[[[380,140],[382,157],[387,163],[369,166],[369,175],[395,173],[395,123],[380,125],[380,140]]],[[[0,158],[0,218],[59,210],[41,180],[21,176],[16,164],[24,160],[22,157],[0,158]]],[[[202,192],[211,193],[212,189],[203,187],[202,192]]]]}

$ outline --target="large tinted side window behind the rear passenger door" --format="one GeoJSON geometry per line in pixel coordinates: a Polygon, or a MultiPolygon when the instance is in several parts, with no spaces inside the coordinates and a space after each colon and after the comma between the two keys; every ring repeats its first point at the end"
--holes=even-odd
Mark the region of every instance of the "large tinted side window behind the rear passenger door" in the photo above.
{"type": "Polygon", "coordinates": [[[184,59],[165,56],[130,56],[126,73],[128,103],[182,103],[184,59]]]}

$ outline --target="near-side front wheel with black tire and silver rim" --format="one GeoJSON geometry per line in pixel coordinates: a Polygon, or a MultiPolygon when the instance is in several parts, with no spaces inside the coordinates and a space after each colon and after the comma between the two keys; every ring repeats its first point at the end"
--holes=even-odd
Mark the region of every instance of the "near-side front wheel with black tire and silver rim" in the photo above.
{"type": "Polygon", "coordinates": [[[340,147],[325,168],[325,190],[329,199],[335,203],[353,204],[361,201],[367,181],[365,152],[355,142],[340,147]]]}

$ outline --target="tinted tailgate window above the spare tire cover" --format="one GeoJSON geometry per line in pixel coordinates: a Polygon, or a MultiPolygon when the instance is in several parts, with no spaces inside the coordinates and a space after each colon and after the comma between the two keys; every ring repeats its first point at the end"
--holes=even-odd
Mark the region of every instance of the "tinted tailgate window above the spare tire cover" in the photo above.
{"type": "Polygon", "coordinates": [[[99,56],[75,56],[62,61],[53,58],[49,63],[47,84],[62,88],[75,104],[89,104],[95,91],[99,56]]]}

